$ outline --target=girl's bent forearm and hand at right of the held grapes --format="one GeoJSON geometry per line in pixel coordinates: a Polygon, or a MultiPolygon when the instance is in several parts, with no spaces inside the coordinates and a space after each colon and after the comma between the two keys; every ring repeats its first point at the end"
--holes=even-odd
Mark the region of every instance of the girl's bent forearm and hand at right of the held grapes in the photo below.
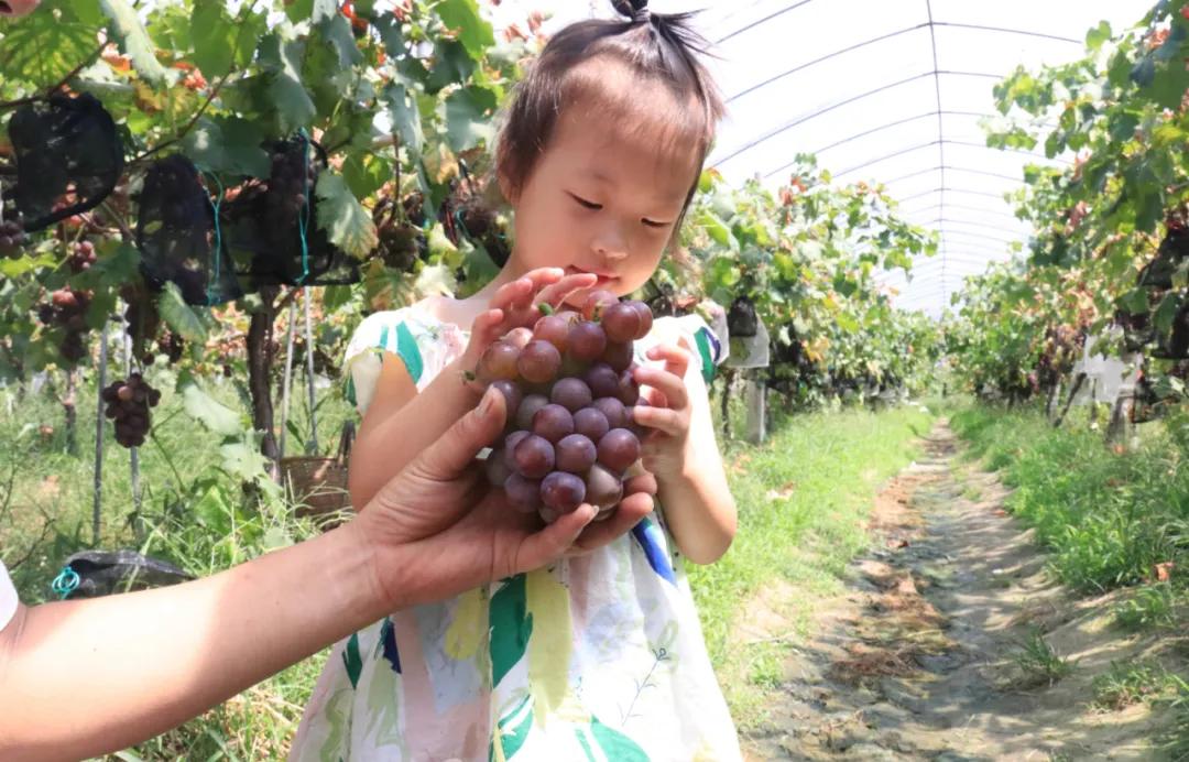
{"type": "Polygon", "coordinates": [[[681,347],[653,347],[648,358],[665,360],[665,366],[636,369],[636,382],[652,388],[654,402],[635,409],[636,422],[654,429],[643,442],[644,468],[656,477],[656,496],[678,548],[694,563],[713,563],[735,537],[737,514],[706,384],[681,347]]]}

